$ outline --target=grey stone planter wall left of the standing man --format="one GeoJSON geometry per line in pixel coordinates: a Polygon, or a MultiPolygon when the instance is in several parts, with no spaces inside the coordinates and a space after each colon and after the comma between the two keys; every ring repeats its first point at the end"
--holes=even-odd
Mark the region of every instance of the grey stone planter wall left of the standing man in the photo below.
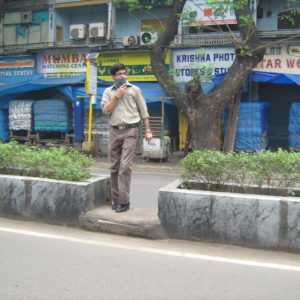
{"type": "Polygon", "coordinates": [[[78,225],[79,215],[109,201],[109,177],[84,182],[0,175],[0,214],[78,225]]]}

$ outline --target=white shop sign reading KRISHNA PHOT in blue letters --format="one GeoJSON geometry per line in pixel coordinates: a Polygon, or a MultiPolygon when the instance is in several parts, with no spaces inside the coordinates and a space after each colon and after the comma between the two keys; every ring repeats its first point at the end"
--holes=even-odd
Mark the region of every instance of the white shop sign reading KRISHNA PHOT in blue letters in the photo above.
{"type": "Polygon", "coordinates": [[[233,47],[178,49],[172,57],[175,81],[187,82],[199,72],[212,76],[228,72],[235,51],[233,47]]]}

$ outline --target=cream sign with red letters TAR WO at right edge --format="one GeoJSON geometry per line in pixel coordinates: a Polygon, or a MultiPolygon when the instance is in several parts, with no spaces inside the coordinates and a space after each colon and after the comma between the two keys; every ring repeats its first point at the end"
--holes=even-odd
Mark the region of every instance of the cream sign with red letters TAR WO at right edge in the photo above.
{"type": "Polygon", "coordinates": [[[254,71],[300,74],[300,45],[268,47],[254,71]]]}

